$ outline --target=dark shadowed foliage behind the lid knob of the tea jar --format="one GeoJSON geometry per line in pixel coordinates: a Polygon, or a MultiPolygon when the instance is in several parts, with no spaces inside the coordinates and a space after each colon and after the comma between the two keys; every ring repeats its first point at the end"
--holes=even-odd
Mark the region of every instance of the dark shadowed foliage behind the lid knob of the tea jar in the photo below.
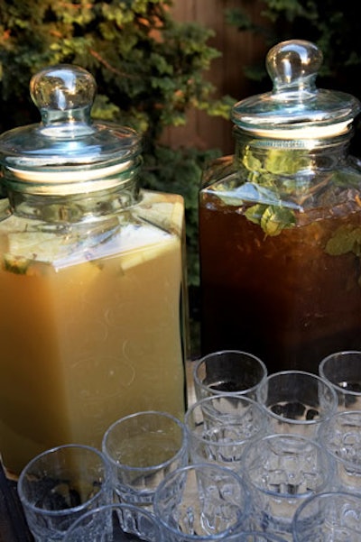
{"type": "MultiPolygon", "coordinates": [[[[313,41],[324,56],[319,86],[337,88],[361,96],[358,75],[361,68],[359,21],[361,3],[344,0],[256,0],[261,22],[249,9],[250,0],[238,0],[239,7],[227,10],[229,24],[240,32],[255,32],[267,47],[291,39],[313,41]]],[[[249,77],[263,79],[269,87],[264,63],[247,67],[249,77]]]]}

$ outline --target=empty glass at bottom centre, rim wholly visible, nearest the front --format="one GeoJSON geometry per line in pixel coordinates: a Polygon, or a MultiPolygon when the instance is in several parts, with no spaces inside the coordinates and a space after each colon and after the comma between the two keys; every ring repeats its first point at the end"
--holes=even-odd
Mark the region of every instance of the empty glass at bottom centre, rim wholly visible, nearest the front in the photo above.
{"type": "Polygon", "coordinates": [[[250,495],[234,471],[218,464],[189,464],[170,473],[154,495],[154,513],[167,542],[224,539],[246,528],[250,495]]]}

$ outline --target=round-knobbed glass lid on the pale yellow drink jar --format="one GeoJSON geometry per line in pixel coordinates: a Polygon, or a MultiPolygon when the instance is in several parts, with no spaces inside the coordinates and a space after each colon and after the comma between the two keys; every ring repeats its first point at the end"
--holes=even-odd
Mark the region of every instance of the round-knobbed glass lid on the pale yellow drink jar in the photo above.
{"type": "Polygon", "coordinates": [[[30,92],[42,121],[0,136],[7,173],[48,192],[60,185],[77,192],[87,181],[93,181],[90,190],[116,185],[116,176],[139,157],[140,140],[131,128],[91,120],[96,91],[93,76],[78,66],[60,64],[34,75],[30,92]]]}

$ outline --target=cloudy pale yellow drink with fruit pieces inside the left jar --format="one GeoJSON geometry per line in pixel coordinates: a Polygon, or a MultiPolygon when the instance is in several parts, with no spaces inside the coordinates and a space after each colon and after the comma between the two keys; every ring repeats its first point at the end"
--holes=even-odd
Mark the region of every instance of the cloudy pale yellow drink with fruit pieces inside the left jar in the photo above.
{"type": "Polygon", "coordinates": [[[10,471],[51,446],[99,447],[106,427],[135,411],[183,416],[182,202],[157,198],[148,211],[168,232],[112,218],[111,235],[92,244],[22,231],[15,216],[0,224],[0,450],[10,471]]]}

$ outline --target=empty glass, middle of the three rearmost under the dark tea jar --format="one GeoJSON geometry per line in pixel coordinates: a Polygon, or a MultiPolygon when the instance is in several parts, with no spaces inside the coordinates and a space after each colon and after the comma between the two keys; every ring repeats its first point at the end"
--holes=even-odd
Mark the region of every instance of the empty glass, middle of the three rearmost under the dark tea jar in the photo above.
{"type": "Polygon", "coordinates": [[[270,433],[298,433],[313,438],[320,424],[338,408],[338,396],[317,374],[282,371],[268,375],[257,390],[270,433]]]}

